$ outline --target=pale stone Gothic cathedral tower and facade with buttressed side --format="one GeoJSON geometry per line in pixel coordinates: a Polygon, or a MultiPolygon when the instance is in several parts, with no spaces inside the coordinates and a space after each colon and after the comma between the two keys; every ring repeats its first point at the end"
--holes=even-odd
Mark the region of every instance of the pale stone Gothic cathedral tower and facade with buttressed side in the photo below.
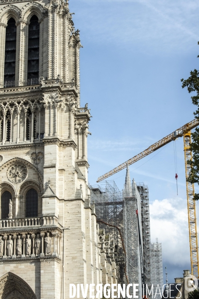
{"type": "Polygon", "coordinates": [[[91,115],[68,0],[0,0],[0,40],[0,298],[116,283],[90,203],[91,115]]]}

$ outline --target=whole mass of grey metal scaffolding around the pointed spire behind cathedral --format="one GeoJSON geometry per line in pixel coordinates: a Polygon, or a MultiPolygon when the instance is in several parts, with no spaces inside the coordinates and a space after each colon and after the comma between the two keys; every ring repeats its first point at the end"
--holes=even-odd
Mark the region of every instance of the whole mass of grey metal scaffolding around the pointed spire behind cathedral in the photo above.
{"type": "MultiPolygon", "coordinates": [[[[131,284],[143,283],[151,287],[163,286],[161,244],[151,244],[149,190],[143,183],[131,183],[129,169],[124,190],[120,191],[114,181],[90,186],[91,202],[95,204],[98,219],[120,229],[126,250],[126,271],[131,284]]],[[[116,264],[120,270],[120,283],[124,276],[124,251],[116,228],[100,224],[116,245],[116,264]]],[[[140,295],[142,296],[142,294],[140,295]]],[[[156,296],[157,297],[157,296],[156,296]]]]}

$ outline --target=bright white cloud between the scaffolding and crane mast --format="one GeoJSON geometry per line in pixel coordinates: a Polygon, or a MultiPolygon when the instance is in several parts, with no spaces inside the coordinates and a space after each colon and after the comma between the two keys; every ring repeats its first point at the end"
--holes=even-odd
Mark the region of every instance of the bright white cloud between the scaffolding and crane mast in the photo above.
{"type": "Polygon", "coordinates": [[[182,198],[155,200],[150,204],[151,241],[162,243],[165,263],[190,263],[187,201],[182,198]]]}

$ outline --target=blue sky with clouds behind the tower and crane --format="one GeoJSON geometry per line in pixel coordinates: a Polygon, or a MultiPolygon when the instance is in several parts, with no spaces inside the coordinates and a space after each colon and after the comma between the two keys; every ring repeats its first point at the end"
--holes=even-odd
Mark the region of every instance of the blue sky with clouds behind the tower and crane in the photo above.
{"type": "MultiPolygon", "coordinates": [[[[181,78],[199,59],[197,0],[70,0],[80,29],[81,104],[93,118],[89,182],[194,119],[181,78]]],[[[130,166],[150,192],[151,241],[163,247],[169,282],[190,269],[183,140],[130,166]]],[[[123,188],[125,170],[112,176],[123,188]]]]}

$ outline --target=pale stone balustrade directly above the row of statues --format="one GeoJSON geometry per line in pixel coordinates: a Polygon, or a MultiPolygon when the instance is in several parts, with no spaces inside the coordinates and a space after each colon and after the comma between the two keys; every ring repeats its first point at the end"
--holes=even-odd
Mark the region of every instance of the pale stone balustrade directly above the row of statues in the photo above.
{"type": "Polygon", "coordinates": [[[52,225],[57,226],[58,219],[55,216],[43,216],[43,217],[32,217],[32,218],[17,218],[17,219],[3,219],[0,220],[1,228],[11,227],[25,227],[25,226],[42,226],[52,225]]]}

